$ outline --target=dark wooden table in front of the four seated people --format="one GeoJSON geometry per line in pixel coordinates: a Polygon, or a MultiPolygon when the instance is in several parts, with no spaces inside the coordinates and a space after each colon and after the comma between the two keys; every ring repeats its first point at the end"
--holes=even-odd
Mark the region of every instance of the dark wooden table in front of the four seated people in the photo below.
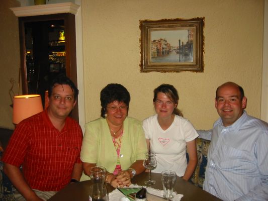
{"type": "MultiPolygon", "coordinates": [[[[132,183],[137,183],[138,185],[145,185],[144,181],[148,180],[149,173],[143,172],[139,175],[134,176],[131,180],[132,183]]],[[[150,187],[155,189],[163,189],[161,182],[161,174],[160,173],[152,173],[151,178],[156,181],[154,185],[150,187]]],[[[60,190],[54,196],[52,196],[49,201],[88,201],[89,195],[89,186],[91,185],[91,181],[82,181],[78,183],[72,183],[67,185],[65,188],[60,190]]],[[[109,192],[113,191],[114,188],[111,185],[107,185],[107,189],[109,192]]],[[[192,183],[183,180],[181,177],[177,177],[176,184],[174,190],[177,193],[183,194],[182,201],[187,200],[221,200],[214,195],[206,192],[205,190],[193,185],[192,183]]]]}

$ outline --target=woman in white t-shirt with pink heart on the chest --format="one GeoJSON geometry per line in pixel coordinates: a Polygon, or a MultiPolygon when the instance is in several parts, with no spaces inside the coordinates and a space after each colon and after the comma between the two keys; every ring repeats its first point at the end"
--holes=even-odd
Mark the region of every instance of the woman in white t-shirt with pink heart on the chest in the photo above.
{"type": "Polygon", "coordinates": [[[173,170],[188,180],[197,165],[196,138],[193,125],[177,107],[178,93],[174,86],[161,84],[154,89],[156,115],[143,121],[148,150],[156,153],[157,167],[152,172],[173,170]],[[186,159],[186,147],[189,163],[186,159]]]}

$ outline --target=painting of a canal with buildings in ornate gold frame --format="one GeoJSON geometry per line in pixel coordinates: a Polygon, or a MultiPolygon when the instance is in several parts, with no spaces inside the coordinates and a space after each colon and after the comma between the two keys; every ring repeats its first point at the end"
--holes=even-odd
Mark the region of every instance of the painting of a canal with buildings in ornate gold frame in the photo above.
{"type": "Polygon", "coordinates": [[[140,20],[140,71],[204,71],[205,18],[140,20]]]}

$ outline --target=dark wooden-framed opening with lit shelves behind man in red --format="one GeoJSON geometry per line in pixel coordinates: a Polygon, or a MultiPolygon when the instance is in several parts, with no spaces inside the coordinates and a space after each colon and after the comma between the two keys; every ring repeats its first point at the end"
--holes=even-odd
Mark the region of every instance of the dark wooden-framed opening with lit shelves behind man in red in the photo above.
{"type": "MultiPolygon", "coordinates": [[[[41,94],[53,77],[68,76],[77,86],[75,16],[19,17],[23,94],[41,94]]],[[[71,115],[78,122],[78,103],[71,115]]]]}

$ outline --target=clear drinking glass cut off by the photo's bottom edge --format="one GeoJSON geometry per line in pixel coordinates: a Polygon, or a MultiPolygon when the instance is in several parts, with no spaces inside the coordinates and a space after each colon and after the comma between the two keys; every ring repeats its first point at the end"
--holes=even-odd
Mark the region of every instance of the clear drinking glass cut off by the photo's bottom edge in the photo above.
{"type": "Polygon", "coordinates": [[[109,195],[105,184],[94,183],[90,185],[89,201],[109,201],[109,195]]]}

